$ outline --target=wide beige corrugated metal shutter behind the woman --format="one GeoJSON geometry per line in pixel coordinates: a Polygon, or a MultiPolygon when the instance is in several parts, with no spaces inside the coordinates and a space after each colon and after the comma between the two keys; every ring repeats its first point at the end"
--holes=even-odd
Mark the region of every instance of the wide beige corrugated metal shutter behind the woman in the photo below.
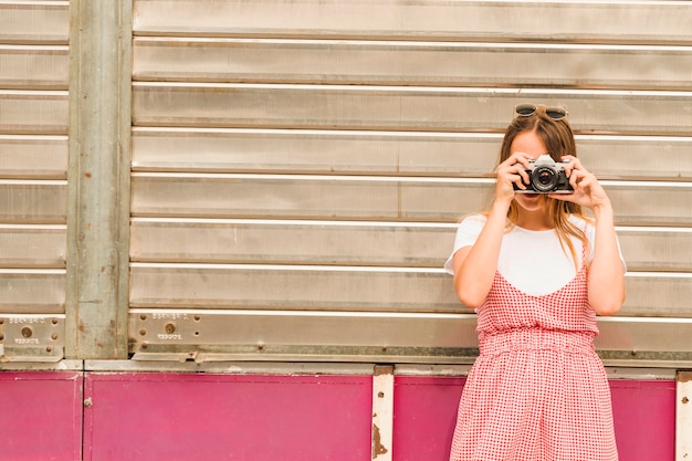
{"type": "Polygon", "coordinates": [[[441,265],[530,101],[616,207],[601,354],[692,363],[692,2],[134,7],[135,358],[472,358],[441,265]]]}

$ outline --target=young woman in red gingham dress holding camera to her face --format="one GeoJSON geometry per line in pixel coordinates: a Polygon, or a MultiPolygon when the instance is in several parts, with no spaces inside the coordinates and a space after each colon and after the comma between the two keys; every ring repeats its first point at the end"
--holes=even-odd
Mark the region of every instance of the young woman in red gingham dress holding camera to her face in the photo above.
{"type": "Polygon", "coordinates": [[[593,339],[596,316],[625,301],[625,262],[610,200],[577,158],[566,116],[562,107],[516,107],[494,201],[462,220],[445,264],[459,300],[478,312],[480,345],[451,461],[618,459],[593,339]],[[533,192],[528,171],[544,155],[574,190],[533,192]]]}

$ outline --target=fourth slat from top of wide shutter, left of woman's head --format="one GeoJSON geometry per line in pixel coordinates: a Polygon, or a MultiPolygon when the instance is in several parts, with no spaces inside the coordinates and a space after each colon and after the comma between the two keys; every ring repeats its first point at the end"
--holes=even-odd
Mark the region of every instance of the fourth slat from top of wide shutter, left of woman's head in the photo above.
{"type": "Polygon", "coordinates": [[[133,130],[133,170],[484,175],[494,168],[501,139],[469,133],[139,127],[133,130]]]}

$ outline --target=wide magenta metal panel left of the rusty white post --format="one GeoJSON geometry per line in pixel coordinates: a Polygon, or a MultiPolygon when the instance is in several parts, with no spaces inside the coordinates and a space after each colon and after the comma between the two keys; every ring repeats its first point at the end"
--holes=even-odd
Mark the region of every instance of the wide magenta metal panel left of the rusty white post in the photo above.
{"type": "Polygon", "coordinates": [[[84,460],[370,460],[370,376],[86,375],[84,460]]]}

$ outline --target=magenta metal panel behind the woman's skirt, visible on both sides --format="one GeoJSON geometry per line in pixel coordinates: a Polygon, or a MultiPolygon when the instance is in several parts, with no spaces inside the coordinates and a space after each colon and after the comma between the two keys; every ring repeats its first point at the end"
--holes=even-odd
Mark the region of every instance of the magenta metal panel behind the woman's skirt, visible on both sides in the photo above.
{"type": "MultiPolygon", "coordinates": [[[[447,461],[464,379],[396,377],[394,461],[447,461]]],[[[620,461],[673,461],[675,381],[611,380],[620,461]]]]}

